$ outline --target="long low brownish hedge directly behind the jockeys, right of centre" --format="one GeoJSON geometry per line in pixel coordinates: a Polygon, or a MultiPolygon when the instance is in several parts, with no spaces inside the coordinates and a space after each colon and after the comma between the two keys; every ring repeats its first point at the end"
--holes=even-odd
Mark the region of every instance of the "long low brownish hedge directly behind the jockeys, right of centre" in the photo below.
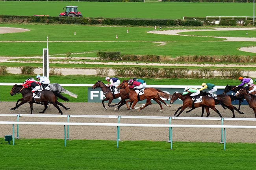
{"type": "Polygon", "coordinates": [[[222,79],[237,79],[243,75],[241,69],[220,68],[209,69],[201,68],[189,70],[187,68],[141,68],[141,67],[122,67],[114,68],[117,77],[142,77],[142,78],[191,78],[191,79],[213,79],[216,77],[222,79]]]}

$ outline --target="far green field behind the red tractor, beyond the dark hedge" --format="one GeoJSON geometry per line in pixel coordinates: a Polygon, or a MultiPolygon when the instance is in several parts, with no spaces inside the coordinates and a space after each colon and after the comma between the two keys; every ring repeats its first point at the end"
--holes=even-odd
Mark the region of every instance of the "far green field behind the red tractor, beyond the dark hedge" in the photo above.
{"type": "Polygon", "coordinates": [[[84,17],[182,19],[183,16],[252,16],[252,3],[1,1],[0,15],[58,16],[67,5],[84,17]]]}

